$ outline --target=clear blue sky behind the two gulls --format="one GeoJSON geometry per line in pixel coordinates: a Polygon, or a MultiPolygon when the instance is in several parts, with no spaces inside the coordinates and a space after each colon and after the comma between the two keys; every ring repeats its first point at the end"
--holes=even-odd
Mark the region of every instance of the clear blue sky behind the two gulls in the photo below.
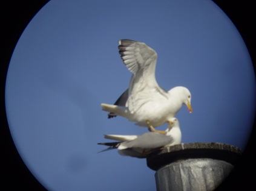
{"type": "Polygon", "coordinates": [[[161,87],[190,90],[193,113],[182,107],[177,114],[183,143],[246,146],[255,116],[253,67],[238,31],[213,2],[50,1],[19,39],[6,86],[16,147],[47,189],[156,190],[145,159],[97,154],[103,134],[147,131],[122,117],[107,119],[100,108],[130,81],[120,39],[157,51],[161,87]]]}

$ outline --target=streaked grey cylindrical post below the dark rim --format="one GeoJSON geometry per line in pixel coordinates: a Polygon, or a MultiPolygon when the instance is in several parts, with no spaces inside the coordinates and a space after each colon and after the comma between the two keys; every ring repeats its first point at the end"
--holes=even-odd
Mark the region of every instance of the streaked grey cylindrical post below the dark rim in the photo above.
{"type": "Polygon", "coordinates": [[[156,174],[157,191],[210,191],[217,188],[234,166],[222,160],[196,158],[177,161],[156,174]]]}

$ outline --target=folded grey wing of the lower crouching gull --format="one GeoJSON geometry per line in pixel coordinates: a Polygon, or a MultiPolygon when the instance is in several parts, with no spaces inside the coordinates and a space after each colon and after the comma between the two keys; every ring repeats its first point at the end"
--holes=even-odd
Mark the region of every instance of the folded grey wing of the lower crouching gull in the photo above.
{"type": "Polygon", "coordinates": [[[142,148],[142,149],[154,149],[165,146],[173,142],[173,138],[164,134],[149,132],[144,133],[135,140],[129,142],[123,142],[121,145],[127,148],[142,148]]]}

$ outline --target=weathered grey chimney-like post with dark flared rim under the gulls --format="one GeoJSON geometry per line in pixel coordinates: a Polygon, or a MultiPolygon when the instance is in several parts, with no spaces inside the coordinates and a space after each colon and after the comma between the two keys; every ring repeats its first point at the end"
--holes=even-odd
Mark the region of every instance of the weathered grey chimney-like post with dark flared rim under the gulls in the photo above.
{"type": "Polygon", "coordinates": [[[185,143],[147,157],[157,191],[214,190],[229,175],[241,150],[223,143],[185,143]]]}

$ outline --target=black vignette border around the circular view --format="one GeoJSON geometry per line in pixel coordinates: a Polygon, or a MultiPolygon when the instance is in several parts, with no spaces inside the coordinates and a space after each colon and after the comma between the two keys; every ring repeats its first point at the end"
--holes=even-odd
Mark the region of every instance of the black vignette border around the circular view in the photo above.
{"type": "MultiPolygon", "coordinates": [[[[237,27],[256,63],[256,1],[254,0],[213,0],[229,16],[237,27]]],[[[47,0],[10,0],[0,2],[0,79],[1,79],[1,126],[0,126],[0,190],[46,190],[21,160],[11,139],[5,113],[5,79],[13,50],[25,27],[33,16],[47,4],[47,0]]],[[[234,171],[217,190],[252,190],[256,187],[256,135],[252,130],[248,146],[234,171]]]]}

